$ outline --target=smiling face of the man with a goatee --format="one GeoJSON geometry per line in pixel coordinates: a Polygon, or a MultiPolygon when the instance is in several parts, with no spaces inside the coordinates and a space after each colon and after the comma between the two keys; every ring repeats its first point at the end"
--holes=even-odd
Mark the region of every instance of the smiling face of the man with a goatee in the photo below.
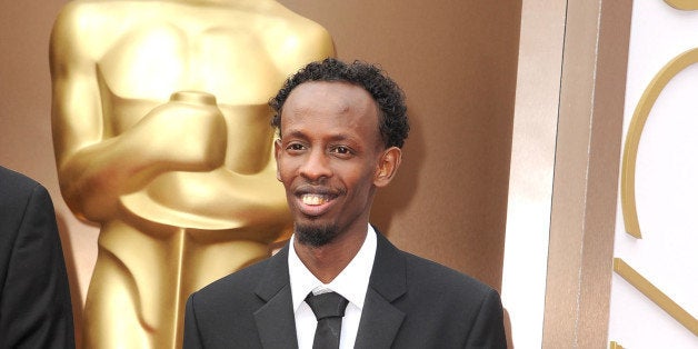
{"type": "Polygon", "coordinates": [[[383,186],[385,147],[371,96],[350,83],[305,82],[286,100],[280,131],[277,178],[299,242],[322,246],[365,232],[376,187],[383,186]]]}

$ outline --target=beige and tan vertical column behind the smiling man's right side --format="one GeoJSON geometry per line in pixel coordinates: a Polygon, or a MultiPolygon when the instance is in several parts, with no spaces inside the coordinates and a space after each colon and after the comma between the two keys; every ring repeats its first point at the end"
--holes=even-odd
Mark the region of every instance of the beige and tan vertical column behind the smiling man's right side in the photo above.
{"type": "Polygon", "coordinates": [[[608,345],[631,4],[524,1],[502,290],[521,348],[608,345]]]}

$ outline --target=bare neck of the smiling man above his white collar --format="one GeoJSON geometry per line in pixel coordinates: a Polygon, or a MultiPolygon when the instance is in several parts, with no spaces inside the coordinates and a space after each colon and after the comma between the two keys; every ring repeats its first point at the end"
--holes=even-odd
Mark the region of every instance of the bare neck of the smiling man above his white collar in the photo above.
{"type": "MultiPolygon", "coordinates": [[[[366,226],[365,226],[366,227],[366,226]]],[[[313,247],[293,239],[293,249],[300,261],[322,283],[329,283],[349,265],[366,240],[361,232],[340,235],[331,242],[313,247]]]]}

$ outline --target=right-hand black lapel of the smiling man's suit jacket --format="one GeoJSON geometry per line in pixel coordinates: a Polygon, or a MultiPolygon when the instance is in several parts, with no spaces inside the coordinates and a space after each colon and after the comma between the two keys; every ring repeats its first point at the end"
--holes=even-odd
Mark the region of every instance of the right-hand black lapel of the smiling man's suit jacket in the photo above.
{"type": "Polygon", "coordinates": [[[405,257],[380,232],[377,237],[356,348],[389,348],[405,319],[405,313],[391,303],[407,291],[405,257]]]}

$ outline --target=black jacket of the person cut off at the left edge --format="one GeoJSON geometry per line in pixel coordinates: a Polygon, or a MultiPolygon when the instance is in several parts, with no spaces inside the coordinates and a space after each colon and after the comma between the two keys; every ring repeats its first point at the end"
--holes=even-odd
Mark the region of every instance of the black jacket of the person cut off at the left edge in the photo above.
{"type": "Polygon", "coordinates": [[[41,185],[2,167],[0,348],[74,348],[53,203],[41,185]]]}

